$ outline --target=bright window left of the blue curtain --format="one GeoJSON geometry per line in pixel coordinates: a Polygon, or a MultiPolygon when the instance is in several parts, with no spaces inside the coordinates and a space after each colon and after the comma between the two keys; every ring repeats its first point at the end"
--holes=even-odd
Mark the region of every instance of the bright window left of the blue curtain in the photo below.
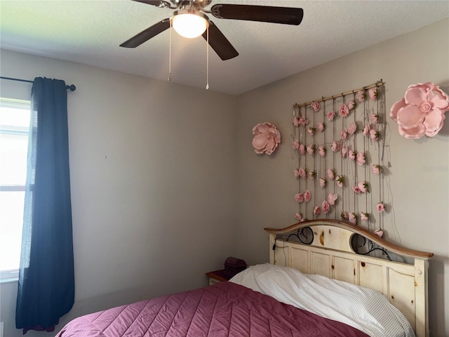
{"type": "Polygon", "coordinates": [[[18,277],[29,105],[26,100],[0,98],[0,279],[18,277]]]}

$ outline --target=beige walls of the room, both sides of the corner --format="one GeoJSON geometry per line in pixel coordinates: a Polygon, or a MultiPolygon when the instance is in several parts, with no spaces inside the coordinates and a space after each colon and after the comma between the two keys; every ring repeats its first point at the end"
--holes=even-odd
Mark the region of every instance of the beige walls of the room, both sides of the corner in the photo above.
{"type": "MultiPolygon", "coordinates": [[[[263,227],[295,222],[293,104],[378,79],[386,83],[387,108],[420,81],[449,93],[448,44],[445,20],[237,98],[2,51],[2,76],[77,86],[69,93],[76,303],[58,328],[86,312],[205,285],[203,272],[229,255],[266,262],[263,227]],[[251,129],[260,121],[283,135],[272,156],[253,152],[251,129]]],[[[432,336],[449,336],[449,122],[421,140],[389,126],[394,217],[385,221],[387,237],[436,254],[430,328],[432,336]]],[[[13,328],[15,288],[1,285],[8,337],[21,336],[13,328]]]]}

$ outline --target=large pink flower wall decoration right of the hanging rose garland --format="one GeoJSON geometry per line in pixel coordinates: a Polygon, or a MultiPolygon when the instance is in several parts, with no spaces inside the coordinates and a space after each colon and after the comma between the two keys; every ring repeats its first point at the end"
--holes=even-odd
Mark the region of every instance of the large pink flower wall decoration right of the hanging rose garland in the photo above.
{"type": "Polygon", "coordinates": [[[390,117],[408,139],[434,137],[443,127],[449,97],[431,82],[408,86],[404,98],[391,106],[390,117]]]}

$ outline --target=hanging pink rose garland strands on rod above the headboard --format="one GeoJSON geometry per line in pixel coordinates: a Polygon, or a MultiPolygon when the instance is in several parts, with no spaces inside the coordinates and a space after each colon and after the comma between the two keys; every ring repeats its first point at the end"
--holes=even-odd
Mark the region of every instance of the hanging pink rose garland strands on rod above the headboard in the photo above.
{"type": "MultiPolygon", "coordinates": [[[[294,105],[291,144],[297,164],[292,213],[296,220],[342,218],[382,236],[384,209],[389,206],[383,201],[384,97],[384,84],[379,81],[294,105]]],[[[429,94],[438,107],[443,105],[442,97],[440,91],[429,94]]],[[[263,138],[260,143],[267,141],[263,138]]]]}

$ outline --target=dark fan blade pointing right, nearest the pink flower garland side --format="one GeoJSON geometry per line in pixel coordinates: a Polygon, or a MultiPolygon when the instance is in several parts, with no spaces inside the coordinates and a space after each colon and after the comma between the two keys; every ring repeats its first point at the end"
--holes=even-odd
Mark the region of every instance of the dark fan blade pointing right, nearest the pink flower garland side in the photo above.
{"type": "Polygon", "coordinates": [[[302,8],[217,4],[210,8],[215,18],[248,20],[299,25],[304,16],[302,8]]]}

